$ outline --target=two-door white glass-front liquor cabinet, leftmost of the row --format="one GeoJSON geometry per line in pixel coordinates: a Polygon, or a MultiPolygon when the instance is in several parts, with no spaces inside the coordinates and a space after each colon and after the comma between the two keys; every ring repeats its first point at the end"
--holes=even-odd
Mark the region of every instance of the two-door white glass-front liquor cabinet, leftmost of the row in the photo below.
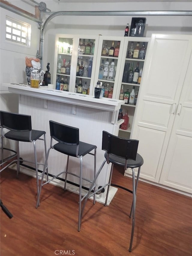
{"type": "Polygon", "coordinates": [[[92,94],[98,36],[63,35],[55,38],[55,89],[92,94]]]}

